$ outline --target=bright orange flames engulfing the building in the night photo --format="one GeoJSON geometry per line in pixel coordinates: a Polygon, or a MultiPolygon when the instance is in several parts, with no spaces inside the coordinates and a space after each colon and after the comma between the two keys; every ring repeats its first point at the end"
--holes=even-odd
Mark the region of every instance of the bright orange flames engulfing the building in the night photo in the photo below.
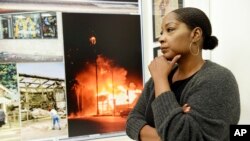
{"type": "Polygon", "coordinates": [[[95,63],[86,63],[86,69],[76,75],[71,90],[76,97],[77,112],[69,113],[68,118],[120,115],[120,111],[131,109],[141,94],[140,80],[128,80],[125,68],[102,55],[97,56],[96,63],[97,69],[95,63]]]}

